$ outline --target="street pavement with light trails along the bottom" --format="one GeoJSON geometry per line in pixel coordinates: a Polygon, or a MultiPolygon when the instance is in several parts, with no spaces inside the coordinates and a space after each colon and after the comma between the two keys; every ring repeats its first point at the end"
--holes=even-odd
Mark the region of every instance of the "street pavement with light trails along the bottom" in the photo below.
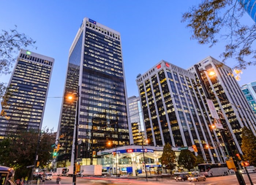
{"type": "MultiPolygon", "coordinates": [[[[246,185],[250,185],[248,177],[246,174],[243,174],[246,185]]],[[[256,185],[256,173],[250,173],[250,177],[254,185],[256,185]]],[[[62,185],[72,185],[72,177],[61,177],[62,185]]],[[[42,182],[40,183],[42,184],[42,182]]],[[[56,176],[53,176],[51,181],[46,181],[45,184],[56,184],[56,176]]],[[[220,176],[220,177],[208,177],[206,181],[200,182],[176,182],[174,180],[170,180],[170,178],[159,178],[148,179],[121,179],[121,178],[100,178],[100,177],[77,177],[76,179],[77,185],[90,185],[90,184],[98,184],[98,185],[164,185],[164,184],[172,184],[172,185],[238,185],[238,181],[236,175],[228,175],[228,176],[220,176]]]]}

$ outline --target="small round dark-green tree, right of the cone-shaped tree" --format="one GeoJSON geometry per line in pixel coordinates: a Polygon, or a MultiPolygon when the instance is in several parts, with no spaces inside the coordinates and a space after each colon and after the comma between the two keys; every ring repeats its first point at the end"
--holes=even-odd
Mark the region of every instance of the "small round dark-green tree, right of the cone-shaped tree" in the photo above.
{"type": "Polygon", "coordinates": [[[181,150],[178,164],[190,171],[196,164],[196,156],[189,150],[181,150]]]}

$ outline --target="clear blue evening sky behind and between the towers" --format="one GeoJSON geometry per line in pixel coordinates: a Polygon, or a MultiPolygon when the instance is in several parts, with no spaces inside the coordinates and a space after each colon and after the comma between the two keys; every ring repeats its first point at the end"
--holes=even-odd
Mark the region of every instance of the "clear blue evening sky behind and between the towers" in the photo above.
{"type": "MultiPolygon", "coordinates": [[[[207,56],[221,61],[225,40],[215,46],[191,40],[182,14],[201,0],[12,0],[0,1],[0,29],[14,29],[33,38],[30,51],[55,59],[42,127],[57,131],[68,53],[84,17],[120,32],[128,97],[138,96],[136,76],[161,60],[187,69],[207,56]],[[59,97],[59,98],[56,98],[59,97]]],[[[247,14],[243,24],[254,22],[247,14]]],[[[226,63],[234,67],[230,59],[226,63]]],[[[256,66],[243,71],[240,85],[256,81],[256,66]]],[[[10,75],[0,76],[8,83],[10,75]]]]}

